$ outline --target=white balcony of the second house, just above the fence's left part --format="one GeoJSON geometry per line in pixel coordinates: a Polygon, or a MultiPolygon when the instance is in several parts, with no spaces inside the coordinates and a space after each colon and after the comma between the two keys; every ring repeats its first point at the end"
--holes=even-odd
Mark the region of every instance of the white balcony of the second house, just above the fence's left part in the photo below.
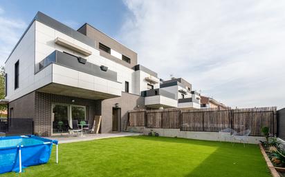
{"type": "Polygon", "coordinates": [[[177,107],[175,95],[161,89],[146,90],[142,92],[145,97],[145,106],[158,109],[159,107],[177,107]]]}

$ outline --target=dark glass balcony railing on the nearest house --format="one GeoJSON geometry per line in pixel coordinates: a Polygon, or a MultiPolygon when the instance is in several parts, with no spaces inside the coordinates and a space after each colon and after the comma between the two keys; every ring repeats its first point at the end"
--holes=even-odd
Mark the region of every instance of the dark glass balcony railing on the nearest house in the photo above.
{"type": "Polygon", "coordinates": [[[99,66],[90,63],[86,61],[86,59],[79,56],[74,56],[73,54],[55,50],[39,63],[39,70],[42,70],[44,67],[50,65],[50,63],[56,63],[79,72],[84,72],[111,81],[117,81],[117,72],[108,70],[108,67],[106,66],[99,66]]]}

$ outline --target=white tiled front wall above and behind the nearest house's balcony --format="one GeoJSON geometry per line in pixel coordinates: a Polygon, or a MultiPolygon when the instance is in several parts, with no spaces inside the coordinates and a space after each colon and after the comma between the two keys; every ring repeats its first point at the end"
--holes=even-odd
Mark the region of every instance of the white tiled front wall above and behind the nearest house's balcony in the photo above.
{"type": "MultiPolygon", "coordinates": [[[[131,70],[129,67],[125,67],[123,65],[120,65],[119,63],[106,59],[103,56],[100,56],[99,50],[92,48],[91,46],[86,45],[80,41],[77,41],[76,39],[68,37],[66,34],[62,32],[54,30],[53,28],[50,28],[47,25],[44,25],[43,23],[40,23],[38,21],[36,21],[35,23],[36,23],[36,35],[35,35],[36,36],[36,60],[35,60],[36,68],[39,68],[39,62],[45,59],[46,56],[48,56],[48,54],[50,54],[51,52],[55,50],[59,50],[61,52],[68,52],[76,56],[82,56],[84,59],[87,59],[88,62],[93,63],[95,65],[105,65],[108,67],[109,70],[113,70],[117,72],[117,81],[121,83],[120,91],[123,91],[123,92],[125,91],[125,81],[127,81],[129,82],[129,92],[132,94],[136,94],[133,92],[133,89],[132,89],[133,88],[132,73],[134,72],[134,70],[131,70]],[[65,39],[66,41],[75,43],[81,48],[85,48],[86,50],[91,51],[92,54],[90,56],[83,56],[82,54],[78,52],[64,48],[61,45],[57,45],[55,44],[55,39],[57,37],[61,37],[62,39],[65,39]]],[[[116,55],[116,51],[113,52],[113,54],[116,55]]],[[[120,59],[121,58],[122,56],[120,56],[120,59]]]]}

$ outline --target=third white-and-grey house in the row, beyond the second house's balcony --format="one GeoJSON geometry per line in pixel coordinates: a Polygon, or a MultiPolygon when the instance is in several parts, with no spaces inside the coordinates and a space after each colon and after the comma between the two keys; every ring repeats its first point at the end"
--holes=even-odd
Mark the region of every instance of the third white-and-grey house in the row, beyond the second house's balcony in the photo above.
{"type": "Polygon", "coordinates": [[[178,100],[177,107],[200,108],[200,94],[192,91],[192,85],[182,78],[161,81],[160,89],[174,94],[174,98],[178,100]]]}

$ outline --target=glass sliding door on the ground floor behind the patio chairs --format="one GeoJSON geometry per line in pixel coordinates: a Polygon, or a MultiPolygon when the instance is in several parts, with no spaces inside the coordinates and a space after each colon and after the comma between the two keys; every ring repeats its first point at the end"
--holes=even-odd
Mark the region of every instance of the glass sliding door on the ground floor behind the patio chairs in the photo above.
{"type": "Polygon", "coordinates": [[[80,105],[52,105],[53,134],[68,133],[68,129],[73,128],[72,121],[86,120],[86,107],[80,105]]]}

